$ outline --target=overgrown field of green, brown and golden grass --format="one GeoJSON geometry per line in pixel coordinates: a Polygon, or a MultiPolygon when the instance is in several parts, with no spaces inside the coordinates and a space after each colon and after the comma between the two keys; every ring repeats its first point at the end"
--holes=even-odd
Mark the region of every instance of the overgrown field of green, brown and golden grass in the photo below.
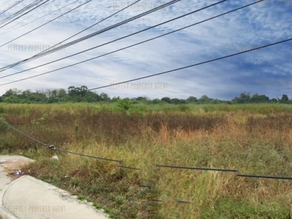
{"type": "Polygon", "coordinates": [[[137,104],[128,112],[108,104],[7,105],[1,117],[42,142],[141,170],[46,150],[3,124],[0,152],[37,159],[25,169],[31,175],[105,207],[114,218],[147,218],[149,211],[157,212],[151,218],[291,218],[291,180],[155,167],[291,177],[291,112],[291,105],[279,104],[137,104]],[[50,161],[53,155],[60,160],[50,161]]]}

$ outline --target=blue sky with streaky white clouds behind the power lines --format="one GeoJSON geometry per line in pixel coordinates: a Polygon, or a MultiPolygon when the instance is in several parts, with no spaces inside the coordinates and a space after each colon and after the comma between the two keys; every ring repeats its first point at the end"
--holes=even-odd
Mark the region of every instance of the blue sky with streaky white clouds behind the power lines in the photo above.
{"type": "MultiPolygon", "coordinates": [[[[43,51],[44,48],[54,46],[121,10],[135,0],[92,0],[29,34],[6,44],[16,37],[86,2],[86,0],[79,0],[55,11],[74,1],[49,0],[43,6],[27,13],[18,20],[4,27],[2,27],[3,24],[0,25],[0,67],[24,60],[43,51]],[[52,11],[55,12],[40,18],[52,11]],[[40,19],[29,23],[37,18],[40,19]],[[24,26],[20,27],[21,25],[24,26]],[[6,45],[1,46],[3,44],[6,45]],[[37,45],[39,45],[39,48],[37,48],[37,45]]],[[[141,0],[135,5],[100,22],[98,25],[89,28],[62,44],[107,28],[169,1],[141,0]]],[[[66,47],[63,50],[7,69],[0,72],[0,77],[99,46],[219,1],[178,1],[171,6],[93,36],[90,39],[66,47]]],[[[2,78],[0,79],[0,84],[31,77],[103,55],[255,1],[227,0],[114,43],[100,46],[20,74],[2,78]]],[[[0,11],[15,2],[17,1],[0,0],[0,11]]],[[[1,14],[0,20],[12,15],[32,2],[32,0],[22,1],[17,6],[1,14]]],[[[0,86],[0,95],[4,94],[10,88],[46,90],[67,88],[69,86],[79,87],[82,85],[86,85],[88,88],[96,88],[170,71],[289,39],[292,37],[291,23],[292,0],[265,0],[253,6],[202,22],[198,25],[122,51],[39,77],[0,86]]],[[[191,95],[200,98],[202,95],[207,95],[209,98],[231,100],[243,92],[250,92],[251,95],[254,93],[265,94],[270,98],[281,98],[283,94],[286,94],[292,98],[291,60],[292,41],[288,41],[222,60],[129,82],[119,87],[110,86],[96,91],[98,93],[107,93],[110,97],[120,96],[121,98],[138,96],[146,96],[150,99],[163,98],[165,96],[170,98],[188,98],[191,95]]]]}

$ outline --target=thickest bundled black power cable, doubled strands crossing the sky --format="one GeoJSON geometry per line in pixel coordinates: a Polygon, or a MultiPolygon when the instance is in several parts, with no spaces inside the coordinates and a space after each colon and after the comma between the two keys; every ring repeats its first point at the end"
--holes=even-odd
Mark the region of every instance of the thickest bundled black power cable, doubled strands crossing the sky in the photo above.
{"type": "MultiPolygon", "coordinates": [[[[65,45],[63,45],[63,46],[60,46],[60,47],[58,47],[58,48],[54,48],[54,49],[52,49],[51,51],[41,52],[41,53],[38,53],[38,54],[36,54],[36,55],[34,55],[34,56],[30,57],[30,58],[27,58],[27,59],[25,59],[25,60],[22,60],[22,61],[19,61],[19,62],[13,63],[13,64],[8,65],[8,66],[5,66],[5,67],[2,67],[2,68],[0,68],[0,69],[2,69],[0,72],[5,71],[6,69],[8,69],[8,68],[10,68],[10,67],[14,67],[14,66],[19,65],[19,64],[22,64],[22,63],[24,63],[24,62],[27,62],[27,61],[30,61],[30,60],[34,60],[34,59],[36,59],[36,58],[42,57],[42,56],[47,55],[47,54],[49,54],[49,53],[53,53],[53,52],[55,52],[55,51],[57,51],[57,50],[60,50],[60,49],[62,49],[62,48],[65,48],[65,47],[71,46],[71,45],[73,45],[73,44],[79,43],[79,42],[81,42],[81,41],[83,41],[83,40],[89,39],[89,38],[91,38],[91,37],[93,37],[93,36],[96,36],[96,35],[98,35],[98,34],[101,34],[101,33],[103,33],[103,32],[106,32],[106,31],[108,31],[108,30],[111,30],[111,29],[114,29],[114,28],[116,28],[116,27],[119,27],[119,26],[121,26],[121,25],[123,25],[123,24],[126,24],[126,23],[128,23],[128,22],[131,22],[131,21],[133,21],[133,20],[136,20],[136,19],[138,19],[138,18],[140,18],[140,17],[143,17],[143,16],[148,15],[148,14],[150,14],[150,13],[153,13],[153,12],[155,12],[155,11],[158,11],[158,10],[160,10],[161,8],[167,7],[167,6],[169,6],[169,5],[171,5],[171,4],[174,4],[174,3],[178,2],[178,1],[181,1],[181,0],[173,0],[173,1],[170,1],[170,2],[168,2],[168,3],[166,3],[166,4],[163,4],[163,5],[159,6],[159,7],[153,8],[153,9],[151,9],[151,10],[149,10],[149,11],[146,11],[146,12],[141,13],[141,14],[139,14],[139,15],[136,15],[136,16],[134,16],[134,17],[132,17],[132,18],[129,18],[129,19],[126,19],[126,20],[124,20],[124,21],[122,21],[122,22],[119,22],[119,23],[117,23],[117,24],[115,24],[115,25],[109,26],[109,27],[107,27],[107,28],[105,28],[105,29],[99,30],[99,31],[94,32],[94,33],[92,33],[92,34],[89,34],[89,35],[87,35],[87,36],[81,37],[81,38],[79,38],[79,39],[77,39],[77,40],[74,40],[74,41],[72,41],[72,42],[70,42],[70,43],[67,43],[67,44],[65,44],[65,45]],[[5,69],[4,69],[4,68],[5,68],[5,69]]],[[[57,45],[58,45],[58,44],[57,44],[57,45]]],[[[0,47],[1,47],[1,46],[0,46],[0,47]]],[[[54,47],[54,46],[52,46],[52,47],[54,47]]],[[[52,47],[51,47],[51,48],[52,48],[52,47]]]]}

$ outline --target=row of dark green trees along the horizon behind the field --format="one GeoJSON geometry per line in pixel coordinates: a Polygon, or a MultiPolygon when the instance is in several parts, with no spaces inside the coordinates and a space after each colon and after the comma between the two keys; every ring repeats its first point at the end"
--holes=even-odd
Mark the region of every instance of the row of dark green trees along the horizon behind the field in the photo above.
{"type": "MultiPolygon", "coordinates": [[[[117,102],[122,100],[119,96],[110,98],[106,93],[96,93],[93,91],[87,91],[87,86],[74,87],[70,86],[65,89],[48,89],[46,91],[31,91],[31,90],[18,90],[9,89],[0,96],[0,102],[6,103],[54,103],[54,102],[117,102]]],[[[292,99],[289,100],[286,94],[283,94],[281,98],[270,99],[266,95],[241,93],[239,97],[235,97],[233,100],[218,100],[208,98],[207,95],[203,95],[201,98],[190,96],[187,99],[169,98],[164,97],[161,99],[150,100],[147,97],[137,98],[124,98],[123,100],[132,100],[138,102],[144,102],[147,104],[159,104],[159,103],[170,103],[170,104],[243,104],[243,103],[292,103],[292,99]]]]}

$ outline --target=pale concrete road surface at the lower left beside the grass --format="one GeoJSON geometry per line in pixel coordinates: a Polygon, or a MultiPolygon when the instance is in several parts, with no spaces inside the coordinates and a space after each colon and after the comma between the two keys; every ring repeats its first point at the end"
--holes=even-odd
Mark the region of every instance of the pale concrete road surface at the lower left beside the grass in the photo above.
{"type": "Polygon", "coordinates": [[[9,165],[15,168],[31,161],[22,156],[0,156],[0,219],[109,218],[90,203],[34,177],[23,175],[12,181],[6,175],[9,165]]]}

